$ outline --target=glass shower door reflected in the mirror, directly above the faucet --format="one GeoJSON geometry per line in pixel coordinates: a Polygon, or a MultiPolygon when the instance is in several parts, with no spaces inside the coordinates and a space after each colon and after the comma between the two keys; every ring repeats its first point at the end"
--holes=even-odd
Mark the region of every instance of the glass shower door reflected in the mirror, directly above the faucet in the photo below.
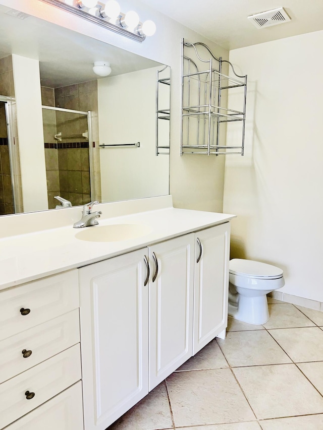
{"type": "Polygon", "coordinates": [[[90,112],[43,106],[48,208],[91,201],[90,112]]]}

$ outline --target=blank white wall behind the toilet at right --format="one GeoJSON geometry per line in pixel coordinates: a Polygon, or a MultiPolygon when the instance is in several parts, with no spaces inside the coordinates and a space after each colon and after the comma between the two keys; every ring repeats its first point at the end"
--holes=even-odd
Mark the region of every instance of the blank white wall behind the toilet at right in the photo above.
{"type": "MultiPolygon", "coordinates": [[[[323,301],[323,31],[230,52],[248,74],[246,150],[226,158],[231,257],[284,269],[285,293],[323,301]]],[[[232,141],[227,136],[227,144],[232,141]]]]}

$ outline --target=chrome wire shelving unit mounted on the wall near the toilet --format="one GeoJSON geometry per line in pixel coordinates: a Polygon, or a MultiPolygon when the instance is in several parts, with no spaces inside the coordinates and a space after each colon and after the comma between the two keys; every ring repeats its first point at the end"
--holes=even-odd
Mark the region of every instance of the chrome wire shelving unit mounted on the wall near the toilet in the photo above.
{"type": "Polygon", "coordinates": [[[237,75],[230,62],[204,43],[182,40],[181,155],[243,155],[246,88],[247,75],[237,75]],[[230,76],[222,73],[223,63],[230,76]],[[229,124],[235,124],[233,136],[241,138],[237,146],[225,144],[229,124]]]}

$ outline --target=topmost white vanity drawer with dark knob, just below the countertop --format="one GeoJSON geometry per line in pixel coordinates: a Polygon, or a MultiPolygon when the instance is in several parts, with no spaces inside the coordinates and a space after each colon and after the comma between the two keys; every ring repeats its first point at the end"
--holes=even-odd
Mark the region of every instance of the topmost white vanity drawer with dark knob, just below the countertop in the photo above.
{"type": "Polygon", "coordinates": [[[0,340],[78,307],[77,269],[2,291],[0,340]]]}

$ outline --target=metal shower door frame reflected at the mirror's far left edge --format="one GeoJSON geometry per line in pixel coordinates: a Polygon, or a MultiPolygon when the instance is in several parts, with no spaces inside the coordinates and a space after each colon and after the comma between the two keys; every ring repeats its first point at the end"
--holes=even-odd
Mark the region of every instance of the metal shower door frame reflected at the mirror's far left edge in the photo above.
{"type": "Polygon", "coordinates": [[[11,179],[11,187],[12,187],[12,197],[14,203],[14,213],[18,213],[18,202],[17,202],[17,174],[16,171],[16,158],[14,153],[15,138],[13,132],[13,114],[12,114],[12,106],[15,104],[16,100],[14,97],[2,96],[0,95],[0,101],[5,103],[5,112],[6,112],[6,123],[7,123],[7,139],[8,139],[8,148],[9,148],[9,164],[10,164],[10,179],[11,179]]]}

